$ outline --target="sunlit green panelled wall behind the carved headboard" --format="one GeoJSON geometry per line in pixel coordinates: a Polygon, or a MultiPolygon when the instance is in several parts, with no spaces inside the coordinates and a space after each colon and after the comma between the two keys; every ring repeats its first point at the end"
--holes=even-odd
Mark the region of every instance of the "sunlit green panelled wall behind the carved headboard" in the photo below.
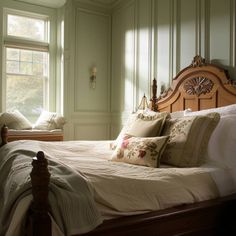
{"type": "Polygon", "coordinates": [[[236,79],[235,0],[131,0],[112,14],[112,134],[151,81],[158,93],[196,54],[236,79]]]}

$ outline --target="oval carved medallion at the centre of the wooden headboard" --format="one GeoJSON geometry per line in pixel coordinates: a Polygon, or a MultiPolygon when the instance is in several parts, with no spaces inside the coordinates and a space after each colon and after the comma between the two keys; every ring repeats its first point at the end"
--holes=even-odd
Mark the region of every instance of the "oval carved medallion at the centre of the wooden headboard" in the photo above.
{"type": "Polygon", "coordinates": [[[183,88],[185,92],[189,95],[197,95],[200,96],[201,94],[206,94],[211,92],[214,84],[210,79],[205,77],[197,77],[188,79],[183,88]]]}

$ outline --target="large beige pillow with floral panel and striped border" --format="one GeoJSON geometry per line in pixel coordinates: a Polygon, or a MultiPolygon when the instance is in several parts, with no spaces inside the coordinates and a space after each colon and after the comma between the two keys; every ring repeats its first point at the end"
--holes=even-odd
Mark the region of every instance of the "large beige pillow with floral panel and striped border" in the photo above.
{"type": "Polygon", "coordinates": [[[162,162],[178,167],[195,167],[205,161],[210,136],[220,120],[218,113],[166,120],[163,135],[169,141],[162,162]]]}

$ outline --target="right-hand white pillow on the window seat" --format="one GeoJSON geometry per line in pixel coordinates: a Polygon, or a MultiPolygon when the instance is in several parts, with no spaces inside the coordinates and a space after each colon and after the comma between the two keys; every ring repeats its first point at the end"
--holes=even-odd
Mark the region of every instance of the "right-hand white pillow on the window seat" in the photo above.
{"type": "Polygon", "coordinates": [[[56,112],[43,111],[34,125],[34,129],[52,130],[62,129],[66,120],[56,112]]]}

